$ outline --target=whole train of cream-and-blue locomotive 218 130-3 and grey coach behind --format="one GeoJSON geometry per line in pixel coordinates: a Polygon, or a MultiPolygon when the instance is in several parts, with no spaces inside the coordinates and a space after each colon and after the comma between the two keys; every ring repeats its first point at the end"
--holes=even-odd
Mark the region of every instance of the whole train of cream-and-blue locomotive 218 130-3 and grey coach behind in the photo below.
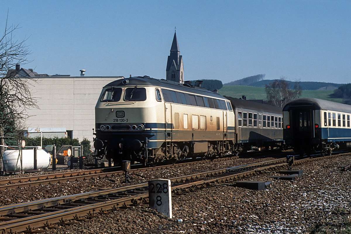
{"type": "Polygon", "coordinates": [[[95,107],[97,156],[155,165],[282,141],[281,110],[200,86],[149,76],[107,84],[95,107]]]}

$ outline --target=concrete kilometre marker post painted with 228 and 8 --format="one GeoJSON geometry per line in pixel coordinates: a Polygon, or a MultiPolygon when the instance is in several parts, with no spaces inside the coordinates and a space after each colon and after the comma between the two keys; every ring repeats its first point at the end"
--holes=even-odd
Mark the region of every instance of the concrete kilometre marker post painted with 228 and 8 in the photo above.
{"type": "Polygon", "coordinates": [[[171,180],[149,181],[149,206],[172,218],[171,180]]]}

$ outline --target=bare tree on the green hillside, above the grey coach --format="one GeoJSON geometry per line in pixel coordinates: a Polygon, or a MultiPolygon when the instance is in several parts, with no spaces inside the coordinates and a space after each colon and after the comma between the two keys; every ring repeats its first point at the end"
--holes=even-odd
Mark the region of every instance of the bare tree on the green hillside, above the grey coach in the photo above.
{"type": "Polygon", "coordinates": [[[283,107],[286,103],[301,96],[300,81],[295,81],[294,89],[289,89],[289,87],[290,83],[286,81],[286,77],[280,76],[279,80],[265,85],[267,99],[272,102],[273,106],[283,107]]]}

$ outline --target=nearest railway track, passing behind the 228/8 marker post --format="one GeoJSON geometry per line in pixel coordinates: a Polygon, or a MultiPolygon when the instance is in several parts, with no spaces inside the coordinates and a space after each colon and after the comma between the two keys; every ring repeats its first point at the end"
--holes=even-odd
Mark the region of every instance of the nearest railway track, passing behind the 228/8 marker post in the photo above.
{"type": "MultiPolygon", "coordinates": [[[[350,153],[325,156],[324,158],[343,155],[350,155],[350,153]]],[[[321,158],[322,157],[300,159],[296,160],[294,164],[301,164],[321,158]]],[[[191,192],[195,189],[212,187],[220,185],[220,183],[228,183],[234,178],[241,178],[258,173],[259,171],[286,165],[286,159],[275,159],[180,176],[171,178],[170,180],[173,194],[179,195],[183,192],[191,192]]],[[[45,230],[38,230],[37,228],[56,228],[58,225],[69,225],[74,223],[72,221],[84,221],[108,213],[109,210],[121,210],[131,206],[137,206],[141,202],[147,203],[147,185],[147,183],[141,183],[3,206],[0,207],[0,231],[2,233],[23,231],[26,231],[26,233],[45,232],[45,230]]]]}

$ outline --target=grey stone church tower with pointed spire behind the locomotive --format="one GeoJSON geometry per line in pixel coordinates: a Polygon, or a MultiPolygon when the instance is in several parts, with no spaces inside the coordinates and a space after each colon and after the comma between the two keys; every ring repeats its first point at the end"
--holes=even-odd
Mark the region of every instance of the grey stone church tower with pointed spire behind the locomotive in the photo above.
{"type": "Polygon", "coordinates": [[[174,32],[171,54],[168,56],[166,68],[166,80],[184,82],[183,57],[180,55],[176,32],[174,32]]]}

